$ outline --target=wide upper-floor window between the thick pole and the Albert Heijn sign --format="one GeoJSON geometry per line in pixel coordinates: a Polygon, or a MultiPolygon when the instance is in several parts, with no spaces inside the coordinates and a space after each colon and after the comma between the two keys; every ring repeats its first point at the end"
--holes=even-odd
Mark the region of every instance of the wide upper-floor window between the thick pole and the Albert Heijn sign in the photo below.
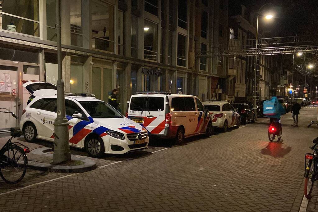
{"type": "Polygon", "coordinates": [[[90,3],[92,48],[114,52],[114,7],[98,0],[90,3]]]}

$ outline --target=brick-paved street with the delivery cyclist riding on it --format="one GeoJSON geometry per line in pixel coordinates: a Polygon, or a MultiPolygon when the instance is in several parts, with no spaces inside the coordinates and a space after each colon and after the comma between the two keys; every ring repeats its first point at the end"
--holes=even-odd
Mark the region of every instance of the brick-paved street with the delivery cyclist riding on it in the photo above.
{"type": "Polygon", "coordinates": [[[284,126],[283,142],[268,142],[266,125],[247,124],[181,146],[157,141],[148,151],[106,156],[86,173],[29,171],[19,185],[0,181],[0,211],[299,211],[303,157],[318,136],[305,126],[316,108],[301,113],[308,120],[284,126]]]}

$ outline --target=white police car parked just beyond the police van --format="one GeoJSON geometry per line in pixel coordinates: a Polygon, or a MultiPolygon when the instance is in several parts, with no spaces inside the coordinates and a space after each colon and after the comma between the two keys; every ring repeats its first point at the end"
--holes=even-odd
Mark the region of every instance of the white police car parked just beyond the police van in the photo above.
{"type": "Polygon", "coordinates": [[[203,105],[209,109],[213,127],[223,129],[226,132],[228,128],[240,126],[239,113],[226,100],[207,100],[203,105]]]}

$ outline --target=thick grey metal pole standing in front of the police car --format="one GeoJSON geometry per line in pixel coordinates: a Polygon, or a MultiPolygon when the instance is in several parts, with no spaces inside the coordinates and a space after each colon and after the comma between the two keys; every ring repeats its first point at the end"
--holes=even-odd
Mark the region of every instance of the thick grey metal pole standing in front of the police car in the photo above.
{"type": "Polygon", "coordinates": [[[58,47],[58,81],[57,81],[57,116],[54,121],[54,153],[53,164],[71,160],[68,137],[69,122],[65,116],[64,81],[62,79],[62,49],[61,49],[61,0],[56,1],[56,31],[58,47]]]}

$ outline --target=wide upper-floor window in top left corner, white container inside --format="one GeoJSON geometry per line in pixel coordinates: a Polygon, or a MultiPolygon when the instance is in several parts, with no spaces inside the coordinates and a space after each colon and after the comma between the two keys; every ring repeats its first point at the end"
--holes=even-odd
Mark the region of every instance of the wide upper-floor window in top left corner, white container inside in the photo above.
{"type": "Polygon", "coordinates": [[[1,29],[40,36],[39,0],[0,2],[1,29]]]}

